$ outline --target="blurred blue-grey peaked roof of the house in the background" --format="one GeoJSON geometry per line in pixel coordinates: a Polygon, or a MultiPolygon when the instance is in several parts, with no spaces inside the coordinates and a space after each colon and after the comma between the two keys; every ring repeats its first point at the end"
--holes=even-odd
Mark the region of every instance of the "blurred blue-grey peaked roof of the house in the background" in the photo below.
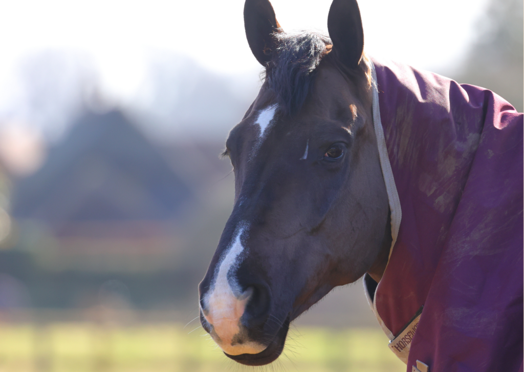
{"type": "Polygon", "coordinates": [[[172,219],[193,197],[119,111],[82,116],[13,194],[13,217],[46,222],[172,219]]]}

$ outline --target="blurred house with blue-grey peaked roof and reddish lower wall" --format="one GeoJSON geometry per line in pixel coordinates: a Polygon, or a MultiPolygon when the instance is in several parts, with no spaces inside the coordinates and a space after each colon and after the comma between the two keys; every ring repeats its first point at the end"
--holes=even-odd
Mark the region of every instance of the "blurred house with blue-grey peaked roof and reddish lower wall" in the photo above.
{"type": "Polygon", "coordinates": [[[21,248],[44,254],[49,269],[148,271],[181,249],[176,220],[192,197],[121,112],[90,113],[36,173],[17,180],[11,215],[20,237],[41,242],[21,239],[21,248]]]}

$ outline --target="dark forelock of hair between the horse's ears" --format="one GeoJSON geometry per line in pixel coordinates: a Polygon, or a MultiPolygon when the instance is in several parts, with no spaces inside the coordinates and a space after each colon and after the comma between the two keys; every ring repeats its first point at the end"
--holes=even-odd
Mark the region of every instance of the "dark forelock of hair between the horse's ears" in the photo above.
{"type": "Polygon", "coordinates": [[[315,69],[331,45],[328,36],[301,32],[275,33],[277,48],[266,67],[266,81],[283,114],[294,115],[303,106],[313,84],[315,69]]]}

